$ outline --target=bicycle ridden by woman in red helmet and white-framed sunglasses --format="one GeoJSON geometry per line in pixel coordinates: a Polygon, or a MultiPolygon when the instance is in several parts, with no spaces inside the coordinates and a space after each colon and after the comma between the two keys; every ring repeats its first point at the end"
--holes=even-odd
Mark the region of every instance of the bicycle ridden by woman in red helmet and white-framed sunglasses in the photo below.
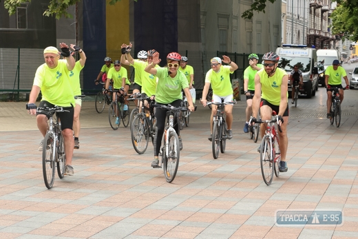
{"type": "Polygon", "coordinates": [[[178,114],[180,111],[186,111],[184,107],[174,107],[172,105],[159,105],[154,104],[154,107],[160,107],[167,111],[167,125],[165,126],[164,133],[162,135],[162,143],[160,143],[160,152],[162,160],[159,167],[163,167],[165,179],[168,183],[173,182],[178,172],[180,148],[179,148],[179,137],[176,134],[174,127],[174,117],[176,117],[178,123],[178,114]]]}

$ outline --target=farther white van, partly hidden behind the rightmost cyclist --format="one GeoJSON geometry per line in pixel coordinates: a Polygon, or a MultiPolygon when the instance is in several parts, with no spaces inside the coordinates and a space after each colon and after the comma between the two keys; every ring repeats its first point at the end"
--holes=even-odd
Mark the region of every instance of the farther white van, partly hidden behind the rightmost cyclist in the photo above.
{"type": "Polygon", "coordinates": [[[317,61],[318,61],[318,72],[319,72],[319,79],[318,83],[321,84],[323,87],[326,85],[324,83],[324,72],[326,68],[332,65],[333,61],[339,60],[338,51],[335,49],[319,49],[317,50],[317,61]]]}

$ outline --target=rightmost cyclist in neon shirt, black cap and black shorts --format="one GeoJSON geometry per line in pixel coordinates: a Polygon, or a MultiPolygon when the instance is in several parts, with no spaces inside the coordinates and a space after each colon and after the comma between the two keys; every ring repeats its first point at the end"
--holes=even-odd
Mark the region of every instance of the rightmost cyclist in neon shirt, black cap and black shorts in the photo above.
{"type": "Polygon", "coordinates": [[[324,72],[325,78],[324,81],[326,83],[327,88],[327,118],[332,118],[330,115],[330,105],[332,105],[332,90],[331,87],[339,88],[339,99],[341,103],[343,102],[344,98],[344,91],[341,85],[342,81],[341,78],[343,77],[344,81],[346,81],[346,90],[349,90],[349,81],[346,74],[346,70],[344,67],[339,66],[339,61],[333,61],[332,65],[328,66],[326,71],[324,72]]]}

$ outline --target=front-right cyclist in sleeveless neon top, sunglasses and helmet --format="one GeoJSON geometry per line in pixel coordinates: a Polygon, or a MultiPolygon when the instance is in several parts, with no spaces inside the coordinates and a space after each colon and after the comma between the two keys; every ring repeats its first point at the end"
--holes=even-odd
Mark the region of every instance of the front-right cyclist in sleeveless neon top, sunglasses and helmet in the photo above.
{"type": "MultiPolygon", "coordinates": [[[[267,52],[262,56],[264,68],[255,74],[255,92],[262,92],[253,96],[253,119],[256,122],[258,110],[262,121],[271,120],[273,111],[277,113],[278,124],[282,132],[280,136],[281,162],[280,172],[287,172],[286,153],[288,147],[288,75],[285,70],[277,67],[280,56],[275,52],[267,52]]],[[[261,127],[261,136],[264,137],[266,127],[261,127]]],[[[260,152],[260,147],[257,149],[260,152]]]]}

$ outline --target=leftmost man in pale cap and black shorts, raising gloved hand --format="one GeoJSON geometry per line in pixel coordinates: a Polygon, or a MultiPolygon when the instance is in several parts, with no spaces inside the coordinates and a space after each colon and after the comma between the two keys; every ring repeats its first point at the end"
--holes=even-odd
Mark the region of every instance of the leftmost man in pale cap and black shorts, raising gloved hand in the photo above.
{"type": "MultiPolygon", "coordinates": [[[[62,52],[55,47],[48,47],[43,50],[45,63],[40,65],[34,77],[34,84],[30,92],[28,102],[29,114],[36,114],[37,127],[43,137],[48,130],[48,116],[45,113],[36,112],[36,98],[40,90],[42,94],[39,107],[54,107],[54,105],[65,107],[68,112],[60,112],[61,128],[65,143],[66,167],[65,174],[73,175],[72,154],[74,149],[74,138],[72,125],[74,120],[74,93],[72,91],[68,72],[74,69],[75,61],[70,54],[70,49],[65,43],[60,43],[62,52]],[[59,61],[60,54],[66,61],[59,61]]],[[[46,146],[45,146],[46,147],[46,146]]],[[[39,151],[43,149],[43,141],[39,146],[39,151]]]]}

